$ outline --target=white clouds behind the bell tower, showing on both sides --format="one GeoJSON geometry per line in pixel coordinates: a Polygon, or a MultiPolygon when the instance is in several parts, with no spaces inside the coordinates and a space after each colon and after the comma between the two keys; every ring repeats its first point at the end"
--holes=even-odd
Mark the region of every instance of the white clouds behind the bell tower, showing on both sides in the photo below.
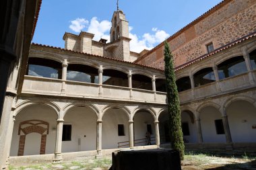
{"type": "MultiPolygon", "coordinates": [[[[100,40],[100,38],[104,38],[110,42],[109,32],[111,28],[111,22],[108,20],[103,20],[100,22],[97,17],[92,17],[90,22],[88,22],[88,20],[84,18],[77,18],[71,21],[69,28],[74,32],[80,32],[82,30],[90,32],[95,35],[94,40],[96,41],[100,40]]],[[[150,50],[170,36],[164,30],[158,30],[158,28],[152,28],[151,33],[145,33],[142,37],[139,37],[136,34],[132,34],[132,30],[133,27],[129,26],[129,38],[131,38],[130,48],[131,51],[134,52],[141,52],[144,49],[150,50]]]]}

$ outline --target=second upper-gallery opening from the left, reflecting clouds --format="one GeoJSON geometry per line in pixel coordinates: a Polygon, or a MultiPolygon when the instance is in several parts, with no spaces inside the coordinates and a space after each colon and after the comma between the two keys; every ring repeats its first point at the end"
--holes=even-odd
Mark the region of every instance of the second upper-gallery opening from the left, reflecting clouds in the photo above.
{"type": "Polygon", "coordinates": [[[86,83],[98,83],[98,69],[88,65],[69,65],[67,80],[86,83]]]}

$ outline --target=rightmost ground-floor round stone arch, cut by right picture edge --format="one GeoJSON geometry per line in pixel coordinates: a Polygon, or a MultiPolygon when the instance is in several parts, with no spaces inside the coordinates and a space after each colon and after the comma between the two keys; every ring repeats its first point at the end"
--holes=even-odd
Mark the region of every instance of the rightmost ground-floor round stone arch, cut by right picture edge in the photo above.
{"type": "Polygon", "coordinates": [[[228,108],[228,106],[233,103],[234,101],[248,101],[249,103],[253,104],[256,108],[256,101],[255,99],[253,99],[252,97],[249,97],[247,95],[236,95],[236,96],[231,96],[228,99],[226,99],[226,101],[224,102],[222,108],[223,108],[223,113],[225,114],[224,116],[226,116],[226,108],[228,108]]]}

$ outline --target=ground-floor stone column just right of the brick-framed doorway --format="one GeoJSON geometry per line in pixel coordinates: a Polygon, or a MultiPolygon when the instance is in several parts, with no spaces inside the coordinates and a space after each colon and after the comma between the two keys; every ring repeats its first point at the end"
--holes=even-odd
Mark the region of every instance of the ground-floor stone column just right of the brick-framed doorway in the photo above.
{"type": "Polygon", "coordinates": [[[61,155],[61,146],[62,146],[62,133],[63,133],[63,119],[57,120],[57,132],[56,132],[56,141],[55,141],[55,157],[53,161],[60,162],[62,160],[61,155]]]}

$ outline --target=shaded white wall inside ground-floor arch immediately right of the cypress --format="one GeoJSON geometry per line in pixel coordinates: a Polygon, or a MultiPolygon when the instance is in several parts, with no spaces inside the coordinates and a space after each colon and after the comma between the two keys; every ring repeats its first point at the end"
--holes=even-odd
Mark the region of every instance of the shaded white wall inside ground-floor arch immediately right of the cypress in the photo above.
{"type": "Polygon", "coordinates": [[[195,143],[197,142],[197,126],[195,125],[195,122],[191,122],[191,118],[187,112],[181,113],[181,122],[188,122],[189,123],[189,134],[187,136],[183,136],[184,139],[188,140],[189,143],[195,143]]]}

